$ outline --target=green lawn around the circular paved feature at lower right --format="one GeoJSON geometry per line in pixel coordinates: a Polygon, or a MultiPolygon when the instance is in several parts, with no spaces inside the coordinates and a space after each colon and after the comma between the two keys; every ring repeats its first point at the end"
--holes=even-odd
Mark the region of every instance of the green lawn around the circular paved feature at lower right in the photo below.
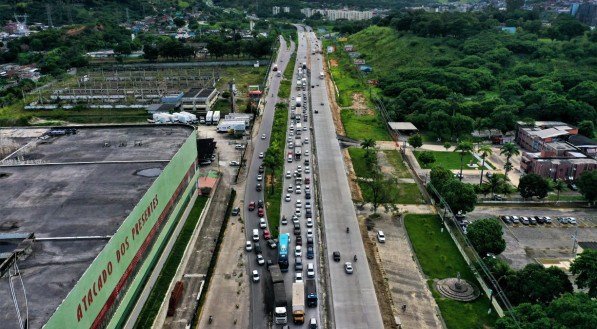
{"type": "Polygon", "coordinates": [[[490,303],[484,295],[472,302],[457,302],[441,297],[433,287],[433,279],[456,277],[458,273],[461,278],[477,285],[449,234],[445,230],[440,232],[443,225],[439,217],[408,214],[404,218],[404,225],[447,327],[460,329],[493,326],[497,316],[495,311],[487,314],[490,303]]]}

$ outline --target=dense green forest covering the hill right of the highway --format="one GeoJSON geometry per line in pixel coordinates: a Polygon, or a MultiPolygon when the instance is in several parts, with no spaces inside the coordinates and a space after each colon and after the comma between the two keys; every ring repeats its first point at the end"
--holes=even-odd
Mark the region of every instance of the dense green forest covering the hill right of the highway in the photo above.
{"type": "Polygon", "coordinates": [[[393,119],[438,137],[597,120],[597,32],[569,15],[546,25],[535,12],[401,12],[348,42],[373,65],[393,119]]]}

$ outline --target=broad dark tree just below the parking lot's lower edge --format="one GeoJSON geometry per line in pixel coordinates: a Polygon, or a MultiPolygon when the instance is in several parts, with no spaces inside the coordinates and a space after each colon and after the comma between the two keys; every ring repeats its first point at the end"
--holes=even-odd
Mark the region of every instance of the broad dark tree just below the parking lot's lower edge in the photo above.
{"type": "Polygon", "coordinates": [[[513,305],[521,303],[549,304],[562,294],[572,292],[572,283],[561,269],[541,264],[528,264],[501,281],[513,305]]]}

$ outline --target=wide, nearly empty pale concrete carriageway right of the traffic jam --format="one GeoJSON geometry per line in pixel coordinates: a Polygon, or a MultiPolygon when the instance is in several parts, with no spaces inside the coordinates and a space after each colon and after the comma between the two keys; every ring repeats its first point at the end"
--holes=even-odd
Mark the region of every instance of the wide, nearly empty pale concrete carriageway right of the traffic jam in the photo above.
{"type": "MultiPolygon", "coordinates": [[[[315,34],[306,27],[308,47],[311,54],[316,44],[322,47],[315,34]]],[[[299,31],[299,40],[303,33],[299,31]]],[[[299,43],[298,52],[304,53],[305,43],[299,43]]],[[[300,57],[299,57],[300,58],[300,57]]],[[[301,59],[303,60],[303,59],[301,59]]],[[[318,114],[313,114],[317,170],[321,191],[321,209],[324,226],[326,267],[329,272],[328,293],[331,295],[330,317],[332,328],[373,329],[383,328],[371,272],[367,266],[365,248],[352,202],[348,177],[344,166],[340,144],[328,103],[327,87],[319,73],[323,72],[324,60],[319,53],[308,58],[311,70],[311,103],[318,114]],[[323,104],[323,105],[322,105],[323,104]],[[346,232],[346,228],[350,232],[346,232]],[[340,262],[334,262],[332,253],[339,251],[340,262]],[[357,262],[353,262],[353,256],[357,262]],[[354,273],[346,274],[344,262],[353,262],[354,273]]],[[[297,59],[298,61],[298,59],[297,59]]]]}

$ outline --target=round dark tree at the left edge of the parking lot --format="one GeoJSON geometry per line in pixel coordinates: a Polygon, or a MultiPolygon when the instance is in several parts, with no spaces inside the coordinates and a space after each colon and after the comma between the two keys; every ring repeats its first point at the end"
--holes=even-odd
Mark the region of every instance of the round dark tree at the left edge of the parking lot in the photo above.
{"type": "Polygon", "coordinates": [[[488,253],[501,254],[506,249],[502,225],[495,219],[480,219],[472,222],[467,228],[467,237],[481,257],[488,253]]]}

